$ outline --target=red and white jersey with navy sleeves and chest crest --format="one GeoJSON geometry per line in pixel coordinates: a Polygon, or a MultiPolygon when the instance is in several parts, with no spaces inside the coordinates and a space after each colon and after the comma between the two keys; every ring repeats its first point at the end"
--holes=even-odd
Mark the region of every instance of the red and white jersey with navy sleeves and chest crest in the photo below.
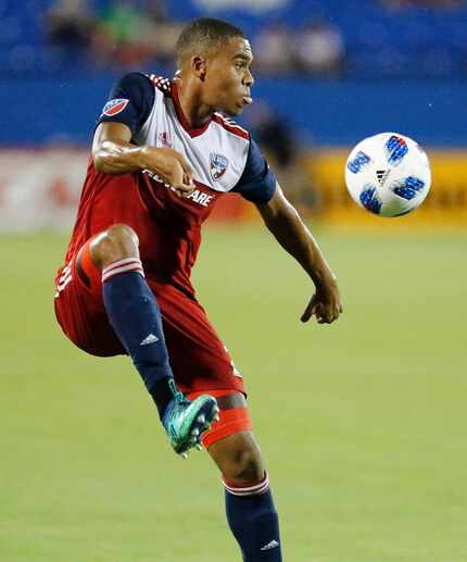
{"type": "Polygon", "coordinates": [[[276,179],[242,127],[220,114],[190,128],[178,103],[176,83],[132,73],[111,92],[98,123],[125,123],[135,145],[172,147],[193,170],[194,191],[179,198],[143,172],[109,175],[89,161],[66,263],[93,235],[121,223],[134,228],[144,272],[190,295],[191,267],[201,242],[201,225],[229,191],[255,203],[267,202],[276,179]]]}

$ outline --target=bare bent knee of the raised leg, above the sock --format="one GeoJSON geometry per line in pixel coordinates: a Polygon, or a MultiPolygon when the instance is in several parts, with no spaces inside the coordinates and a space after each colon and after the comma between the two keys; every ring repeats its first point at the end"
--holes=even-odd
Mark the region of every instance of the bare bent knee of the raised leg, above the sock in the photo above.
{"type": "Polygon", "coordinates": [[[92,261],[100,267],[139,258],[139,240],[136,232],[126,224],[114,224],[93,238],[90,245],[92,261]]]}

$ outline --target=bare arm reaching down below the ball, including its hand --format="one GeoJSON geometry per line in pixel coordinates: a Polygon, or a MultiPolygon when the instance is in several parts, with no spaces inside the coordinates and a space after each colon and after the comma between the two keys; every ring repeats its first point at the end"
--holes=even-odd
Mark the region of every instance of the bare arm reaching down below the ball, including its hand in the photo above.
{"type": "Polygon", "coordinates": [[[342,303],[336,275],[279,184],[273,198],[256,207],[280,246],[295,258],[315,284],[316,292],[302,314],[302,322],[307,322],[313,315],[319,324],[337,320],[342,312],[342,303]]]}

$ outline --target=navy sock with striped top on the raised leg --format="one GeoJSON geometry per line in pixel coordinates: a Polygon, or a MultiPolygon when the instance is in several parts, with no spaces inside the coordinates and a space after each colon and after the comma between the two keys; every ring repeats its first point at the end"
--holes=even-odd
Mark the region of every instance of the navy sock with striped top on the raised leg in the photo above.
{"type": "Polygon", "coordinates": [[[138,259],[125,259],[102,271],[102,291],[110,323],[138,370],[162,417],[174,397],[174,375],[162,329],[161,311],[138,259]]]}

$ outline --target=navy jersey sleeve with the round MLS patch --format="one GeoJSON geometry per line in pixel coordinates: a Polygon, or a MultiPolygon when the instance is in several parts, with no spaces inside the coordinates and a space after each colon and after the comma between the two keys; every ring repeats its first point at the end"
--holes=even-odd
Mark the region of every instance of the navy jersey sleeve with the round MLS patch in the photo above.
{"type": "Polygon", "coordinates": [[[135,136],[149,117],[154,99],[154,86],[144,74],[126,74],[111,89],[97,124],[125,123],[135,136]]]}

